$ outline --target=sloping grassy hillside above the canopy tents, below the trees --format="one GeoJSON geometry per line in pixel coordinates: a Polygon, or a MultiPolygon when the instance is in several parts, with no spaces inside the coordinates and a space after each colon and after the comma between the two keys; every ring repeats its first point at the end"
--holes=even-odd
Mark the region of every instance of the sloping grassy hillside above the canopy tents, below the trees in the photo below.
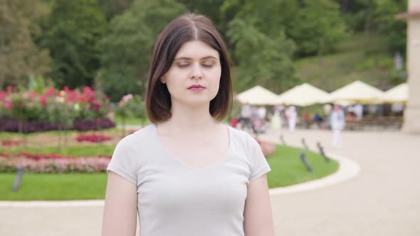
{"type": "Polygon", "coordinates": [[[393,55],[387,51],[385,39],[372,33],[368,41],[356,34],[341,41],[335,52],[295,61],[296,72],[303,82],[327,90],[336,90],[355,80],[376,87],[397,85],[403,80],[392,77],[393,55]]]}

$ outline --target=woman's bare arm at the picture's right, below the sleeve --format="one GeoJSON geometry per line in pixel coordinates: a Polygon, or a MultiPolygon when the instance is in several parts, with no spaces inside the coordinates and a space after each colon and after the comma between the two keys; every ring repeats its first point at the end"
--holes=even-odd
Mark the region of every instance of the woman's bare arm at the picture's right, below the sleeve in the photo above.
{"type": "Polygon", "coordinates": [[[266,175],[248,183],[243,212],[243,230],[246,236],[274,236],[273,214],[266,175]]]}

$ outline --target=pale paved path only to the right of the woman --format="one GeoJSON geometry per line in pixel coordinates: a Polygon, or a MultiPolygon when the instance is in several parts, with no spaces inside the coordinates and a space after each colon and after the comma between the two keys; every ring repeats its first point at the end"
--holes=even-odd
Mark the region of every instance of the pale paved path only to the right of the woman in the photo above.
{"type": "MultiPolygon", "coordinates": [[[[305,193],[271,197],[276,235],[420,235],[420,136],[401,132],[345,132],[332,149],[332,132],[283,132],[287,144],[327,152],[359,163],[350,181],[305,193]]],[[[262,139],[278,140],[278,134],[262,139]]]]}

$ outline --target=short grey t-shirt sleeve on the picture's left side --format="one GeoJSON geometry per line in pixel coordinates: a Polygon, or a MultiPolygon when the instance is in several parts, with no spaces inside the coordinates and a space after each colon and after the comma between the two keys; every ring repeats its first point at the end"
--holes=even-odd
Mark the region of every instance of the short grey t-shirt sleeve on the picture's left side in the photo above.
{"type": "Polygon", "coordinates": [[[111,161],[107,166],[107,173],[113,171],[137,186],[138,157],[134,149],[134,141],[135,134],[130,134],[115,146],[111,161]]]}

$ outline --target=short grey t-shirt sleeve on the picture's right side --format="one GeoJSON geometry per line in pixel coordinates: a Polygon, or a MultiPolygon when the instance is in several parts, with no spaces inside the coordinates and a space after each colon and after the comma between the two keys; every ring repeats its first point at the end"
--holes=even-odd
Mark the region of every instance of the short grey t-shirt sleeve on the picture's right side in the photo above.
{"type": "Polygon", "coordinates": [[[271,168],[267,163],[263,151],[261,150],[260,144],[258,144],[258,142],[251,136],[248,136],[248,151],[251,162],[249,182],[251,182],[271,171],[271,168]]]}

